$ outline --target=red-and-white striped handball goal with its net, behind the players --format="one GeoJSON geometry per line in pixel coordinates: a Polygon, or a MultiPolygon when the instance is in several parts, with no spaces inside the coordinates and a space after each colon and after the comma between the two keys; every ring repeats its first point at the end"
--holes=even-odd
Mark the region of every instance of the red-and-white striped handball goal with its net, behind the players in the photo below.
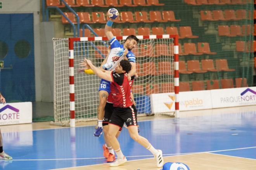
{"type": "MultiPolygon", "coordinates": [[[[118,36],[121,44],[127,36],[118,36]]],[[[132,87],[138,114],[152,113],[150,94],[175,93],[175,117],[179,117],[178,36],[137,36],[135,53],[138,78],[132,87]]],[[[75,127],[76,121],[97,119],[100,79],[79,73],[83,58],[100,66],[107,56],[106,37],[54,38],[54,124],[75,127]]]]}

